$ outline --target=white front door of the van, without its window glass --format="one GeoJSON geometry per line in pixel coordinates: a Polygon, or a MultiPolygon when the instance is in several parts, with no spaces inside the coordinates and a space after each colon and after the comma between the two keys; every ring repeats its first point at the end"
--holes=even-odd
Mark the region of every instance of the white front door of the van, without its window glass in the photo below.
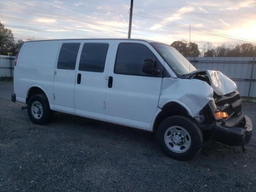
{"type": "MultiPolygon", "coordinates": [[[[116,40],[114,53],[117,52],[120,43],[143,44],[157,56],[162,64],[164,63],[148,42],[116,40]]],[[[112,54],[108,76],[113,77],[113,86],[106,90],[106,120],[150,129],[158,106],[162,78],[115,74],[115,60],[116,54],[112,54]]]]}

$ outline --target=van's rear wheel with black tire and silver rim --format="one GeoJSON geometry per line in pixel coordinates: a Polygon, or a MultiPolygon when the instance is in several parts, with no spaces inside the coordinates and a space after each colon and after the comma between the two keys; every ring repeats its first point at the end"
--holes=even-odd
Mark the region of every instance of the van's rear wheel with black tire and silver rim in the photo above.
{"type": "Polygon", "coordinates": [[[47,124],[52,120],[53,114],[46,95],[36,94],[28,100],[28,116],[34,124],[47,124]]]}

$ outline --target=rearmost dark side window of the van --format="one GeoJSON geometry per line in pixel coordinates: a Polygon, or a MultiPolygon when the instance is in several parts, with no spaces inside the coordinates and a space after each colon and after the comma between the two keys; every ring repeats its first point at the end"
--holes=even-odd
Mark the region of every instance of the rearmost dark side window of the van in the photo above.
{"type": "Polygon", "coordinates": [[[63,43],[60,48],[57,69],[74,70],[80,43],[63,43]]]}

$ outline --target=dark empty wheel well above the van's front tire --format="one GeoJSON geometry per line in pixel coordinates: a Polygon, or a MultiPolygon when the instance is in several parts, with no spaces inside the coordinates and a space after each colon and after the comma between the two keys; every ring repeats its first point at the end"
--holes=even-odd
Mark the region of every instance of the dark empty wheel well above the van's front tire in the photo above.
{"type": "Polygon", "coordinates": [[[156,117],[156,120],[154,122],[153,130],[157,130],[159,124],[165,120],[166,118],[174,115],[181,115],[181,116],[187,116],[189,117],[189,114],[187,110],[181,106],[180,104],[176,102],[170,102],[166,104],[163,108],[162,111],[158,114],[156,117]]]}

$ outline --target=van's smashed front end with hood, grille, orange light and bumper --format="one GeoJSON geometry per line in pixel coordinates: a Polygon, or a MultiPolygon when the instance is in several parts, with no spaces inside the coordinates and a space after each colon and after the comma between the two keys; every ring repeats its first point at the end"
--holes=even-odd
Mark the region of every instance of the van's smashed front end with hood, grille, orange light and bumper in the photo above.
{"type": "Polygon", "coordinates": [[[242,111],[236,84],[221,72],[209,70],[194,71],[190,78],[203,80],[214,90],[214,101],[196,118],[205,138],[244,149],[252,136],[252,121],[242,111]]]}

